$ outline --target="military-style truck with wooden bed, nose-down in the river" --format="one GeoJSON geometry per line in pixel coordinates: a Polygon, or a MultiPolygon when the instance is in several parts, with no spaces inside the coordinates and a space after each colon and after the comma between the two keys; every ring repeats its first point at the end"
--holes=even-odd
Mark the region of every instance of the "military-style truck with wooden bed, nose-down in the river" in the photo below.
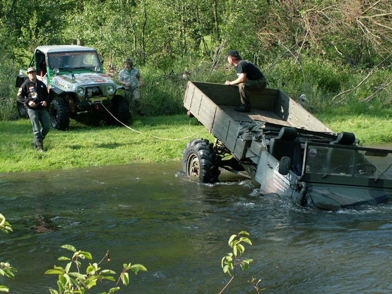
{"type": "Polygon", "coordinates": [[[251,112],[237,112],[238,86],[188,82],[188,115],[215,140],[186,144],[186,175],[215,183],[225,169],[257,181],[262,195],[326,210],[391,200],[392,150],[362,147],[353,133],[335,133],[281,90],[251,93],[250,100],[251,112]]]}

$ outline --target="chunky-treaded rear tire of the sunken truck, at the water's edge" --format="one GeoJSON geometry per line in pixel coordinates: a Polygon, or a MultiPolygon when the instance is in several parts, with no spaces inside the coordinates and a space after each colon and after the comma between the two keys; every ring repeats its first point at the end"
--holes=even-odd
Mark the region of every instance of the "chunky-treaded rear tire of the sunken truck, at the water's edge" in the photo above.
{"type": "Polygon", "coordinates": [[[181,161],[183,172],[201,183],[216,183],[220,174],[216,152],[206,139],[194,139],[187,143],[181,161]]]}

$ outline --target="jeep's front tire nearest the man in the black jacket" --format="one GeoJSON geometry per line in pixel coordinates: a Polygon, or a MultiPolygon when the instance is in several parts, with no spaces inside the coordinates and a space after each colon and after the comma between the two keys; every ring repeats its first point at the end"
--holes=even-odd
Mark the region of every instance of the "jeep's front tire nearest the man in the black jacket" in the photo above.
{"type": "Polygon", "coordinates": [[[65,131],[70,127],[70,106],[64,98],[56,97],[49,105],[49,117],[52,127],[65,131]]]}

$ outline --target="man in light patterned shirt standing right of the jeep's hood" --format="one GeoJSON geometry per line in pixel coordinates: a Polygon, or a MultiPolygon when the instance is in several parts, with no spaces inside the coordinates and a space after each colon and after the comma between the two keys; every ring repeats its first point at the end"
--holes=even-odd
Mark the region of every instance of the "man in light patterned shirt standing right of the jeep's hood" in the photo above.
{"type": "Polygon", "coordinates": [[[118,74],[118,83],[125,86],[125,99],[128,101],[129,112],[132,113],[132,104],[135,103],[137,114],[143,116],[140,107],[140,90],[143,87],[142,76],[137,67],[133,66],[130,58],[124,61],[125,68],[118,74]]]}

